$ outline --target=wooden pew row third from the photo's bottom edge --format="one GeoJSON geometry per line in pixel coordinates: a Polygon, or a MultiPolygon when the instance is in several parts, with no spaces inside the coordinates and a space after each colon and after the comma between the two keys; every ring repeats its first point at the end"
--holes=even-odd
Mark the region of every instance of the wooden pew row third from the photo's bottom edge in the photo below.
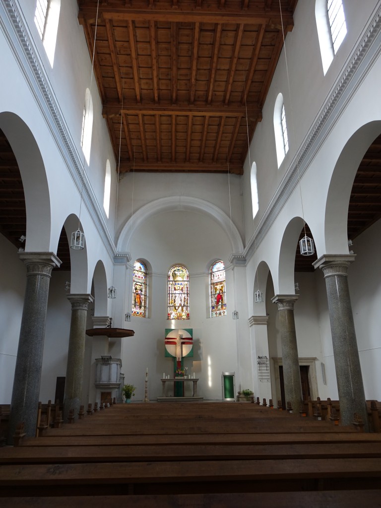
{"type": "Polygon", "coordinates": [[[8,448],[0,454],[0,465],[6,464],[67,464],[78,462],[146,462],[176,463],[202,460],[290,460],[334,459],[356,457],[381,458],[378,442],[339,443],[271,443],[271,444],[187,444],[185,436],[179,444],[97,444],[87,447],[45,446],[8,448]],[[179,451],[181,455],[179,456],[179,451]]]}

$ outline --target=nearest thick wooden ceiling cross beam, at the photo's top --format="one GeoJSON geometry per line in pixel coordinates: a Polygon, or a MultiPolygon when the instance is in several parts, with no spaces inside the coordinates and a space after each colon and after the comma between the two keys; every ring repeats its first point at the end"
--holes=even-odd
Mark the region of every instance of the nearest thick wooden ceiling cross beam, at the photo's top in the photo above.
{"type": "MultiPolygon", "coordinates": [[[[204,4],[202,7],[192,5],[187,8],[184,4],[181,7],[173,8],[172,3],[156,3],[154,9],[147,9],[146,1],[131,2],[131,7],[117,7],[112,5],[100,5],[99,15],[103,19],[113,19],[117,21],[167,21],[171,23],[250,23],[250,24],[268,24],[273,26],[287,26],[292,29],[294,20],[290,12],[279,12],[279,4],[275,3],[272,9],[263,9],[256,7],[252,2],[247,9],[239,6],[224,5],[222,8],[216,2],[204,4]],[[135,5],[134,5],[135,4],[135,5]],[[213,5],[214,4],[214,5],[213,5]]],[[[95,23],[97,6],[94,4],[81,5],[78,12],[80,24],[95,23]]]]}

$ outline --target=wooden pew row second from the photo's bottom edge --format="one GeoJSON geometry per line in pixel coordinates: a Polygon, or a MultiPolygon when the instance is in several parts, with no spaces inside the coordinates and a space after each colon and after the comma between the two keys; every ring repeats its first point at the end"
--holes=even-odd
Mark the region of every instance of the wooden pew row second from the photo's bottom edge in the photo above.
{"type": "Polygon", "coordinates": [[[380,481],[381,458],[0,465],[2,496],[41,495],[42,488],[46,495],[367,489],[380,481]]]}

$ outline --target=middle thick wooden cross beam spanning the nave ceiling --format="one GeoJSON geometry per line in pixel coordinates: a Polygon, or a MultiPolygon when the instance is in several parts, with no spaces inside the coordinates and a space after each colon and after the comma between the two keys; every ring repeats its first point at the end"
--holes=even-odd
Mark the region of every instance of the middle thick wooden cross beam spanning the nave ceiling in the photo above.
{"type": "MultiPolygon", "coordinates": [[[[103,106],[102,115],[104,118],[119,116],[121,110],[121,104],[106,102],[103,106]]],[[[141,113],[145,115],[244,116],[246,115],[246,109],[245,105],[241,103],[230,103],[229,105],[195,103],[191,106],[188,103],[171,104],[164,101],[161,101],[157,105],[147,101],[141,104],[129,104],[127,101],[124,101],[123,113],[129,115],[141,113]]],[[[250,118],[262,119],[262,110],[257,104],[248,104],[247,114],[250,118]]]]}

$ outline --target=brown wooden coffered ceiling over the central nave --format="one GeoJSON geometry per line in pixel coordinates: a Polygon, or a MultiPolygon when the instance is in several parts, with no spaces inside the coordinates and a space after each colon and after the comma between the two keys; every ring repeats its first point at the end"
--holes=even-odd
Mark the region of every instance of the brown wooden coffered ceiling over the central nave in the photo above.
{"type": "Polygon", "coordinates": [[[78,0],[119,171],[242,174],[296,3],[78,0]]]}

